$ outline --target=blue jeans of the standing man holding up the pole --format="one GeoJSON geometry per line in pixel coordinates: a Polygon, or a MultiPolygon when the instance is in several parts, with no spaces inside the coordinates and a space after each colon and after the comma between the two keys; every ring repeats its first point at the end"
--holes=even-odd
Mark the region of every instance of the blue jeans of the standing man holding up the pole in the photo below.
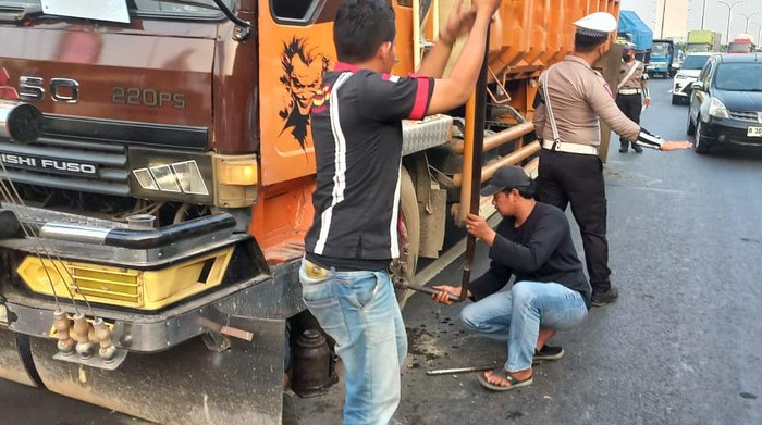
{"type": "Polygon", "coordinates": [[[407,355],[392,280],[385,271],[321,271],[302,261],[302,296],[344,364],[344,424],[386,425],[400,404],[407,355]]]}

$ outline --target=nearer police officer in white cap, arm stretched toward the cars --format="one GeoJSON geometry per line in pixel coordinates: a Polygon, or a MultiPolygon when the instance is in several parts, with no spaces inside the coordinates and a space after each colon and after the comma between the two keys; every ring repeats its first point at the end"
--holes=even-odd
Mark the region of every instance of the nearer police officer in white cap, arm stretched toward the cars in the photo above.
{"type": "Polygon", "coordinates": [[[595,12],[574,23],[575,50],[540,76],[534,126],[542,139],[539,167],[540,201],[572,212],[579,225],[585,261],[592,286],[592,305],[618,296],[611,285],[606,240],[606,193],[599,117],[620,137],[656,150],[688,149],[688,141],[665,141],[627,118],[614,102],[611,87],[590,65],[606,50],[616,18],[595,12]]]}

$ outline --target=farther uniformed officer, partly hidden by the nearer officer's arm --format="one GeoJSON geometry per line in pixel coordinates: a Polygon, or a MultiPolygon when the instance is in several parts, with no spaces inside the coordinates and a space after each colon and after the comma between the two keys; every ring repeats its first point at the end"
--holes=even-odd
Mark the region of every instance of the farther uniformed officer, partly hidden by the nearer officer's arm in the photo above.
{"type": "MultiPolygon", "coordinates": [[[[622,68],[619,70],[619,85],[616,91],[616,105],[631,122],[640,124],[640,112],[643,105],[651,104],[651,95],[648,90],[648,73],[646,64],[635,59],[635,45],[625,45],[622,53],[622,68]],[[642,97],[642,98],[641,98],[642,97]]],[[[643,148],[635,141],[619,138],[619,152],[627,152],[632,145],[632,150],[642,153],[643,148]]]]}

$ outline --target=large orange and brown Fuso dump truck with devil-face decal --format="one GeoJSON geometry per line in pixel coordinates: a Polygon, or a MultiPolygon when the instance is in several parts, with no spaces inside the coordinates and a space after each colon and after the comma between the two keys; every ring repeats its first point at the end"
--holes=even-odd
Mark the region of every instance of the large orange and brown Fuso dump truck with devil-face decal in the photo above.
{"type": "MultiPolygon", "coordinates": [[[[0,0],[1,378],[160,423],[281,422],[339,3],[0,0]]],[[[451,3],[392,3],[404,75],[451,3]]],[[[395,273],[452,261],[474,175],[536,165],[540,72],[618,7],[503,1],[483,120],[475,97],[404,124],[395,273]]]]}

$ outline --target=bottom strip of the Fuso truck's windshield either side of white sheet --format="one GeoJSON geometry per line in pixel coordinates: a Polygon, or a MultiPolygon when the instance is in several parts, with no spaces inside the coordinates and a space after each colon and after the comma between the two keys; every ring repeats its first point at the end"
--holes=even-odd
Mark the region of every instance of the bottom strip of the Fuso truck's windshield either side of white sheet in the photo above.
{"type": "MultiPolygon", "coordinates": [[[[199,17],[220,18],[222,11],[212,0],[122,0],[126,1],[130,14],[142,17],[199,17]]],[[[230,9],[237,0],[223,0],[230,9]]],[[[40,5],[40,0],[0,0],[0,8],[40,5]]]]}

